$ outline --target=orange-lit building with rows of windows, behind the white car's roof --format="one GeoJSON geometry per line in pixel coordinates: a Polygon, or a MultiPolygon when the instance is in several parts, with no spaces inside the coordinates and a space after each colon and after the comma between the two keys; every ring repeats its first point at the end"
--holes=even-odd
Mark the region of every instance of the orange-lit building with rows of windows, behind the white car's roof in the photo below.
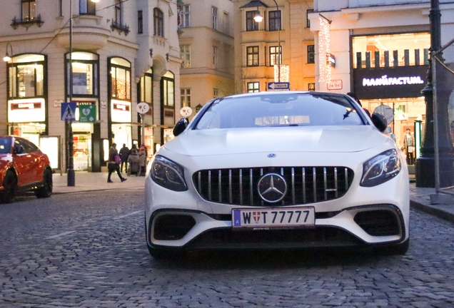
{"type": "Polygon", "coordinates": [[[315,90],[315,46],[308,14],[313,1],[233,0],[236,92],[315,90]],[[261,21],[255,19],[260,14],[261,21]]]}

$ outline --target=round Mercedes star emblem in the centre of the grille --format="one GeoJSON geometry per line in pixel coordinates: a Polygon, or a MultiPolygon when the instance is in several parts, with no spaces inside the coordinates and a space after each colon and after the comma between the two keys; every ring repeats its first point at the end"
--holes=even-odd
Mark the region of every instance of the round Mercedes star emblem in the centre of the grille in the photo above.
{"type": "Polygon", "coordinates": [[[286,179],[277,173],[268,173],[258,180],[257,190],[263,201],[279,202],[287,193],[286,179]]]}

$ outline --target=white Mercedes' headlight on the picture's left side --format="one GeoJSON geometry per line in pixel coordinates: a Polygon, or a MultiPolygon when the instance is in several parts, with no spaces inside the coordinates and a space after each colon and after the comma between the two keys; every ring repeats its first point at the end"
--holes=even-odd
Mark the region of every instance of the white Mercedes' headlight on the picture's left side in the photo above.
{"type": "Polygon", "coordinates": [[[183,167],[161,155],[156,155],[151,163],[150,177],[163,188],[175,191],[188,190],[183,167]]]}

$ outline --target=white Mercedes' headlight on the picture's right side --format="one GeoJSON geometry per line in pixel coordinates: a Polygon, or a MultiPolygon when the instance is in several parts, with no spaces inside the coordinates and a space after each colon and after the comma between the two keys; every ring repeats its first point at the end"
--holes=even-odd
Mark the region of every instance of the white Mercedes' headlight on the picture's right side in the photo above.
{"type": "Polygon", "coordinates": [[[400,173],[400,158],[396,150],[387,150],[363,164],[360,185],[372,187],[385,183],[400,173]]]}

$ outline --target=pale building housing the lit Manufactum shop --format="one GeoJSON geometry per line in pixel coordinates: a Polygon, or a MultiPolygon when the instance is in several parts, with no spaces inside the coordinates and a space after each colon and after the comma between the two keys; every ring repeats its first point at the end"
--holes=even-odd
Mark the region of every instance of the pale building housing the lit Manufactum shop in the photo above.
{"type": "MultiPolygon", "coordinates": [[[[430,1],[316,0],[314,9],[317,90],[353,92],[370,113],[384,111],[413,165],[408,140],[422,134],[426,113],[430,1]]],[[[440,10],[443,45],[453,39],[454,4],[442,0],[440,10]]],[[[452,46],[443,55],[452,62],[452,46]]]]}

